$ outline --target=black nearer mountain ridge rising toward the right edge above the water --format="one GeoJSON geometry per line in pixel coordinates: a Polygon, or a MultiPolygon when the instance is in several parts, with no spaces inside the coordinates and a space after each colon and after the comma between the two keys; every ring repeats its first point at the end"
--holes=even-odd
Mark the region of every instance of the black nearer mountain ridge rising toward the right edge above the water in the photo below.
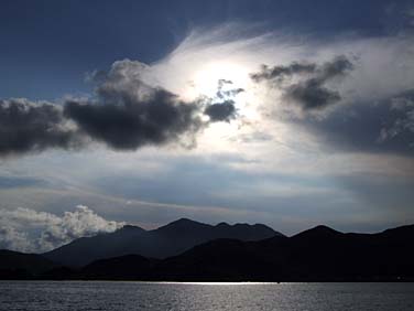
{"type": "MultiPolygon", "coordinates": [[[[397,281],[414,280],[414,226],[378,234],[344,234],[318,226],[259,242],[215,239],[152,261],[131,278],[167,281],[397,281]]],[[[142,261],[139,258],[137,265],[142,261]]],[[[91,264],[94,265],[94,264],[91,264]]],[[[133,267],[133,259],[100,261],[100,271],[133,267]],[[108,265],[107,265],[108,262],[108,265]]],[[[109,272],[110,274],[110,272],[109,272]]],[[[84,275],[85,279],[94,279],[84,275]]]]}

